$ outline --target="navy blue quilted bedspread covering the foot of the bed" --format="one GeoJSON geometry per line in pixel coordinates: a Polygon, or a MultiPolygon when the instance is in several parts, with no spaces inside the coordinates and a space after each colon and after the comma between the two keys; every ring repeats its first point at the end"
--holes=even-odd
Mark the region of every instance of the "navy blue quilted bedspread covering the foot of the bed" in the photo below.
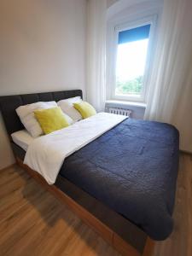
{"type": "Polygon", "coordinates": [[[164,240],[173,228],[178,142],[172,125],[125,119],[67,157],[60,175],[164,240]]]}

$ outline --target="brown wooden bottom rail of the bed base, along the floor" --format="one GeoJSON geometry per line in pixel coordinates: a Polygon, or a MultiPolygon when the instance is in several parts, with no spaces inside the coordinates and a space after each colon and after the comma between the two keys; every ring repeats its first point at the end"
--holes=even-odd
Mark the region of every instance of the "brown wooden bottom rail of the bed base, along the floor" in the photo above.
{"type": "MultiPolygon", "coordinates": [[[[46,183],[43,177],[38,172],[34,172],[29,166],[23,164],[23,161],[19,157],[16,157],[17,164],[26,170],[26,172],[32,176],[38,183],[44,186],[44,189],[49,190],[50,193],[55,195],[57,199],[63,202],[69,207],[75,214],[81,218],[85,224],[88,224],[91,229],[95,230],[102,238],[113,246],[123,256],[152,256],[154,251],[154,241],[147,237],[143,253],[137,251],[135,247],[132,247],[127,241],[121,238],[116,232],[110,229],[106,224],[96,218],[93,214],[87,211],[84,207],[80,206],[71,197],[66,195],[61,189],[58,189],[55,185],[49,185],[46,183]]],[[[136,238],[137,239],[137,238],[136,238]]]]}

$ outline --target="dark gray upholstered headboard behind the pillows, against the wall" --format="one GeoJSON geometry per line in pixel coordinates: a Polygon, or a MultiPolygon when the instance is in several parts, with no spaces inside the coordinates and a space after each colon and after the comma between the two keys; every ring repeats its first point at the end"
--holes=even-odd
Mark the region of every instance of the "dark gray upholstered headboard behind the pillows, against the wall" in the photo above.
{"type": "Polygon", "coordinates": [[[21,124],[15,109],[21,105],[26,105],[34,102],[58,102],[62,99],[81,96],[82,90],[62,90],[53,92],[33,93],[14,96],[0,96],[0,110],[3,115],[3,120],[8,134],[24,129],[21,124]]]}

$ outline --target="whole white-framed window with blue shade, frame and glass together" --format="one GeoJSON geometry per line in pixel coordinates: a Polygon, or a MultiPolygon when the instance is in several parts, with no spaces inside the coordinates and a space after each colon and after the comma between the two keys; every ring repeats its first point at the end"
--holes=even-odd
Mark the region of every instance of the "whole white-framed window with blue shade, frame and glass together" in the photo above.
{"type": "Polygon", "coordinates": [[[146,103],[153,70],[160,9],[126,10],[108,20],[106,98],[146,103]]]}

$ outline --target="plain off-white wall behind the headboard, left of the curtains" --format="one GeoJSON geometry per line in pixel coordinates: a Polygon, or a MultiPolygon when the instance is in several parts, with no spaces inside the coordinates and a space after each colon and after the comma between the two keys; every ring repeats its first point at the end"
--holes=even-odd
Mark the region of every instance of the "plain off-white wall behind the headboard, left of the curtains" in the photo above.
{"type": "MultiPolygon", "coordinates": [[[[86,0],[0,1],[0,95],[85,86],[86,0]]],[[[0,169],[14,162],[0,117],[0,169]]]]}

